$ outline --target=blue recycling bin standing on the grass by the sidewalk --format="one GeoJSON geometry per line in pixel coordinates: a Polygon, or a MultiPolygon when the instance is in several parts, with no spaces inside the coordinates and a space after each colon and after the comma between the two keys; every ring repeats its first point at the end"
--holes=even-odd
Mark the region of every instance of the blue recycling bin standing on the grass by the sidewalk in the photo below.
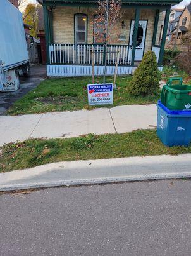
{"type": "Polygon", "coordinates": [[[157,136],[164,145],[188,146],[191,142],[191,111],[171,111],[159,100],[157,104],[157,136]]]}

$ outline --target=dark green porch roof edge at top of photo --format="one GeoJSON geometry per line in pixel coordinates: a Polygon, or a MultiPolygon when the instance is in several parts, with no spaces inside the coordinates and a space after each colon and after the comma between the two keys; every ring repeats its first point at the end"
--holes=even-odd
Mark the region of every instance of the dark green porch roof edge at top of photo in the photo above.
{"type": "MultiPolygon", "coordinates": [[[[41,0],[46,5],[64,5],[64,4],[84,4],[92,5],[96,4],[96,0],[41,0]]],[[[173,5],[182,2],[182,0],[121,0],[121,3],[126,6],[166,6],[173,5]]]]}

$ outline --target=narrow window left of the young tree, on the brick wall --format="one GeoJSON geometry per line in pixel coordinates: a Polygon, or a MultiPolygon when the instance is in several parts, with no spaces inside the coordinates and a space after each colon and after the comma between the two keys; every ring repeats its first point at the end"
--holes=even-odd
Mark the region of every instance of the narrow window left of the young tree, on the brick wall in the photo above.
{"type": "Polygon", "coordinates": [[[87,15],[75,15],[75,43],[87,43],[87,15]]]}

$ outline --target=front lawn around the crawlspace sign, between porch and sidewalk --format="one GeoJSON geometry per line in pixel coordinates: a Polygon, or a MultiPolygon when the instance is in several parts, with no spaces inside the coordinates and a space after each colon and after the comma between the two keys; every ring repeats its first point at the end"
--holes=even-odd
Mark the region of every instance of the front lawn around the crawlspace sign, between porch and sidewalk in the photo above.
{"type": "MultiPolygon", "coordinates": [[[[157,102],[159,92],[147,97],[132,97],[128,94],[128,85],[132,76],[117,77],[117,88],[114,90],[113,105],[151,104],[157,102]]],[[[106,82],[113,82],[112,77],[107,77],[106,82]]],[[[96,77],[95,83],[102,83],[102,77],[96,77]]],[[[71,77],[61,79],[46,79],[30,91],[6,114],[35,114],[42,112],[74,111],[77,109],[92,109],[87,102],[87,84],[92,84],[91,77],[71,77]]],[[[99,106],[101,107],[101,106],[99,106]]],[[[102,106],[106,107],[106,106],[102,106]]],[[[109,107],[109,105],[107,105],[109,107]]]]}

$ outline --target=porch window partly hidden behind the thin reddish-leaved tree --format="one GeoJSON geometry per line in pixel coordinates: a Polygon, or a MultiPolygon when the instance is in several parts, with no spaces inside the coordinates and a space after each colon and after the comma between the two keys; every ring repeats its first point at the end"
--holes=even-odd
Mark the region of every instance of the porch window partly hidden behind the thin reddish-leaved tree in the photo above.
{"type": "Polygon", "coordinates": [[[94,43],[99,44],[104,42],[104,37],[106,34],[104,33],[104,23],[102,21],[98,21],[99,17],[94,15],[94,43]]]}

